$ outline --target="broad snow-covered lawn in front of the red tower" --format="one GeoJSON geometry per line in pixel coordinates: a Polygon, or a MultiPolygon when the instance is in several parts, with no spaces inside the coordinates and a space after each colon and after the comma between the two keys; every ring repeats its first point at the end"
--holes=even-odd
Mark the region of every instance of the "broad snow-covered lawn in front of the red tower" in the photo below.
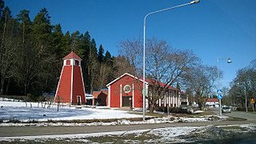
{"type": "MultiPolygon", "coordinates": [[[[74,119],[110,119],[110,118],[142,118],[141,114],[129,114],[125,110],[97,109],[82,107],[77,109],[70,106],[51,106],[50,109],[42,108],[44,104],[36,102],[0,102],[0,119],[7,121],[18,119],[22,122],[35,120],[74,120],[74,119]]],[[[48,105],[46,105],[47,107],[48,105]]]]}

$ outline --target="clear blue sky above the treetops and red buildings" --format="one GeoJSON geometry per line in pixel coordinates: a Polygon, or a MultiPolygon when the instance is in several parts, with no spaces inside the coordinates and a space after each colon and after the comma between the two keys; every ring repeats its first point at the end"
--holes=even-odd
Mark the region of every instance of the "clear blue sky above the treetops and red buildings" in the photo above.
{"type": "MultiPolygon", "coordinates": [[[[30,18],[42,7],[50,13],[51,23],[62,26],[63,33],[89,31],[97,45],[118,55],[118,45],[126,39],[142,38],[146,14],[178,6],[190,0],[6,0],[15,17],[30,10],[30,18]]],[[[168,10],[147,18],[146,38],[165,40],[174,49],[193,50],[208,66],[224,72],[222,86],[229,86],[236,71],[256,58],[256,1],[201,0],[196,5],[168,10]]]]}

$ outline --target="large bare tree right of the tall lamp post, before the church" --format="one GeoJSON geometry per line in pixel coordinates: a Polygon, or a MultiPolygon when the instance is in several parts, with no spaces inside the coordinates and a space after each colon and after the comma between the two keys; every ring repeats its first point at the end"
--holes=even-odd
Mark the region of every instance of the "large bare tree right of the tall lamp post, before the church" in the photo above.
{"type": "Polygon", "coordinates": [[[150,39],[147,46],[146,74],[153,89],[148,99],[150,112],[153,112],[157,100],[164,98],[165,90],[182,82],[199,59],[191,51],[172,49],[163,40],[150,39]]]}

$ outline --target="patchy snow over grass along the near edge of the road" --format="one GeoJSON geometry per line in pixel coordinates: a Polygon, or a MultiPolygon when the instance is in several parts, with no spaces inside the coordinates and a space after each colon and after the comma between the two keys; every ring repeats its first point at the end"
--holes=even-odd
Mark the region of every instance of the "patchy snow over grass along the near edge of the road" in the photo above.
{"type": "MultiPolygon", "coordinates": [[[[232,125],[232,126],[236,126],[236,125],[232,125]]],[[[58,135],[22,136],[22,137],[21,136],[19,136],[19,137],[1,137],[0,142],[1,141],[2,142],[3,141],[26,142],[28,140],[33,141],[33,142],[47,142],[47,140],[50,140],[50,139],[56,139],[56,140],[66,139],[66,141],[72,142],[72,139],[73,139],[77,142],[82,141],[82,142],[91,143],[92,142],[91,138],[97,139],[97,138],[106,137],[106,143],[108,143],[108,142],[114,143],[112,141],[114,141],[116,138],[121,138],[122,142],[125,142],[127,140],[126,143],[139,143],[141,141],[142,141],[142,143],[150,143],[150,142],[153,142],[153,143],[172,143],[172,142],[174,142],[174,143],[176,143],[176,142],[193,142],[194,140],[190,138],[190,134],[198,133],[201,135],[202,139],[205,139],[204,135],[212,134],[213,131],[214,131],[214,133],[220,133],[220,132],[223,132],[223,134],[231,133],[231,136],[234,134],[237,134],[237,132],[238,132],[238,134],[241,134],[241,132],[242,132],[242,131],[234,131],[234,130],[223,131],[221,128],[223,126],[217,126],[220,128],[215,128],[215,127],[216,126],[182,126],[182,127],[166,127],[166,128],[158,128],[158,129],[147,129],[147,130],[113,131],[113,132],[102,132],[102,133],[91,133],[91,134],[58,134],[58,135]],[[133,134],[133,137],[135,137],[135,139],[137,141],[134,141],[132,139],[126,139],[126,138],[130,138],[129,136],[127,136],[129,134],[133,134]],[[148,138],[146,138],[146,139],[142,138],[141,141],[138,141],[138,139],[140,139],[139,137],[143,134],[144,134],[144,136],[147,135],[148,138]],[[149,137],[150,135],[151,135],[151,137],[149,137]],[[155,137],[152,135],[154,135],[155,137]]],[[[240,125],[238,127],[246,129],[248,133],[253,132],[252,130],[256,130],[255,124],[244,124],[244,125],[240,125]]],[[[217,138],[218,136],[213,135],[212,137],[217,138]]],[[[207,142],[210,139],[206,138],[205,142],[207,142]]],[[[226,138],[223,138],[223,139],[225,140],[226,138]]],[[[223,140],[223,139],[219,139],[219,140],[223,140]]],[[[101,143],[101,142],[93,142],[93,143],[101,143]]]]}

